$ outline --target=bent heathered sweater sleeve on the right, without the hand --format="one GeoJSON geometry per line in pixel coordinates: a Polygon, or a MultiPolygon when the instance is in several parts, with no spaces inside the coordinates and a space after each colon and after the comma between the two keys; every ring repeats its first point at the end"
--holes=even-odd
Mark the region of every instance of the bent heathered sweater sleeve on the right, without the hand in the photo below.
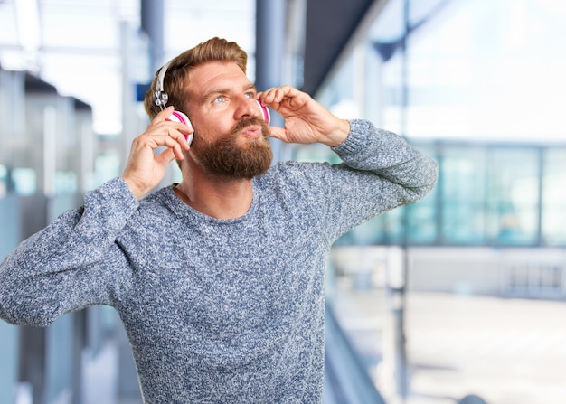
{"type": "Polygon", "coordinates": [[[351,120],[351,131],[333,148],[343,161],[324,174],[323,199],[336,238],[384,211],[419,202],[435,186],[438,165],[401,136],[369,121],[351,120]]]}

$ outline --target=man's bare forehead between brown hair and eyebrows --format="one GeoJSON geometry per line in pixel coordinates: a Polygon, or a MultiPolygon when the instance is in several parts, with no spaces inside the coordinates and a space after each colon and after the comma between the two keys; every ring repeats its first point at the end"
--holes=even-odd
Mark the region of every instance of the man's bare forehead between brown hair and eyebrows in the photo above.
{"type": "Polygon", "coordinates": [[[188,76],[188,92],[200,97],[213,89],[241,89],[251,84],[250,79],[231,61],[208,61],[194,67],[188,76]]]}

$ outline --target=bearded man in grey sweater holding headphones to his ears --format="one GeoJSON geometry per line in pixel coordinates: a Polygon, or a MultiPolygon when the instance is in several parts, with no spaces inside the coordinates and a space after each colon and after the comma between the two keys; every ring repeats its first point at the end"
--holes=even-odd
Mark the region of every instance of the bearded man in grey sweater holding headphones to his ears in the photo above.
{"type": "Polygon", "coordinates": [[[0,316],[14,324],[115,307],[146,403],[320,402],[331,245],[437,179],[400,136],[288,86],[257,93],[245,65],[213,38],[158,71],[122,177],[0,267],[0,316]],[[285,127],[268,127],[256,99],[285,127]],[[193,128],[168,120],[173,106],[193,128]],[[269,167],[267,136],[325,144],[344,164],[269,167]],[[182,182],[144,197],[173,159],[182,182]]]}

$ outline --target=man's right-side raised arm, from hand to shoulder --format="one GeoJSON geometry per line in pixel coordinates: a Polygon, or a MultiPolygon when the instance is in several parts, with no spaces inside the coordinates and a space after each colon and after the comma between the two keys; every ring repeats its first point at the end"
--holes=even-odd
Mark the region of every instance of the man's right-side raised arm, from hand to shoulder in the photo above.
{"type": "Polygon", "coordinates": [[[311,164],[303,171],[311,184],[310,206],[336,223],[332,240],[357,224],[397,206],[420,201],[433,189],[438,166],[394,133],[367,120],[335,117],[306,93],[288,86],[259,94],[265,105],[285,118],[285,127],[270,127],[284,142],[322,143],[344,163],[311,164]]]}

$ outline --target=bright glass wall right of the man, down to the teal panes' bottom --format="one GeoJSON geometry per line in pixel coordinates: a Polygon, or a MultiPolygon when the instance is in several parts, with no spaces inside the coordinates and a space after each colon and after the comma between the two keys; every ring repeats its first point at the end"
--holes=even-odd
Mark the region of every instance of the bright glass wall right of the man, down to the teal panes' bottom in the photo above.
{"type": "Polygon", "coordinates": [[[439,184],[339,243],[566,246],[564,21],[551,1],[388,2],[316,99],[407,137],[439,184]]]}

